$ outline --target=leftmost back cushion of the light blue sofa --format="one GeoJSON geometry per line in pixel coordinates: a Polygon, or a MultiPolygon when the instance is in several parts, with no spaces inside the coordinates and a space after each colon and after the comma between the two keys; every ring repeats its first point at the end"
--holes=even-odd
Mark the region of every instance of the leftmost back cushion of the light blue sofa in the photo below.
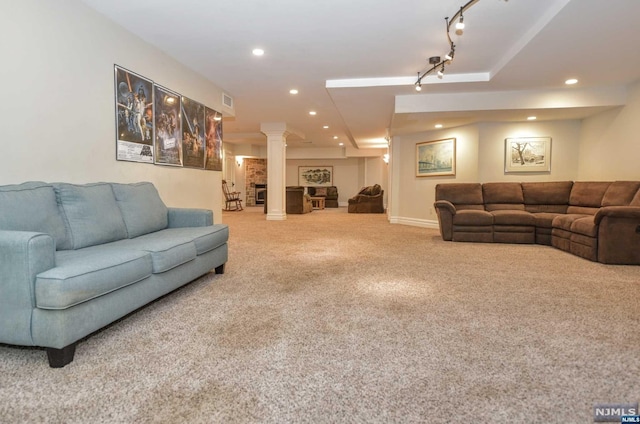
{"type": "Polygon", "coordinates": [[[0,187],[0,230],[47,233],[56,249],[70,244],[51,184],[27,182],[0,187]]]}

